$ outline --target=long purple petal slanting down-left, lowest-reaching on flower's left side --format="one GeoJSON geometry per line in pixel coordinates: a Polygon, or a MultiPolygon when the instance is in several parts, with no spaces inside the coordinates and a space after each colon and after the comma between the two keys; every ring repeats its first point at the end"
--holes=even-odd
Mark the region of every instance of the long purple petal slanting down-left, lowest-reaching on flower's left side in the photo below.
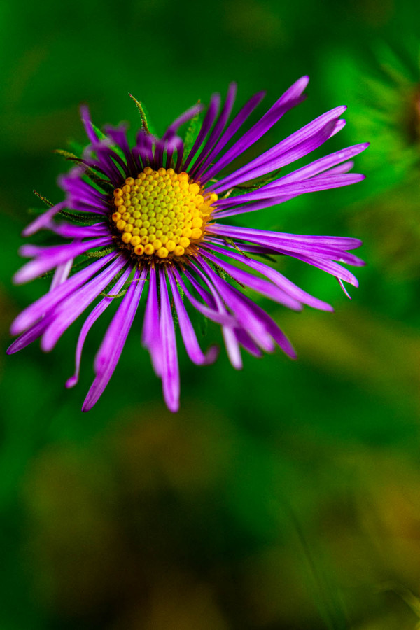
{"type": "Polygon", "coordinates": [[[123,351],[127,335],[130,332],[134,316],[139,307],[141,292],[146,280],[147,269],[140,274],[139,269],[134,273],[134,279],[130,284],[118,311],[113,317],[105,337],[94,360],[96,377],[87,392],[82,411],[87,412],[99,400],[109,379],[116,369],[116,365],[123,351]]]}

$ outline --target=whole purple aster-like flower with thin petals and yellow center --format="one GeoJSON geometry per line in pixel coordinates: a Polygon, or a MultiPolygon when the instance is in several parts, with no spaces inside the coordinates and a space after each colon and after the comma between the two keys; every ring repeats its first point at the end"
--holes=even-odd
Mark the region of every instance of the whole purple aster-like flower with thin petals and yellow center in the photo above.
{"type": "Polygon", "coordinates": [[[179,408],[174,314],[188,356],[197,365],[213,363],[217,349],[211,347],[203,353],[188,314],[190,307],[221,325],[226,351],[238,370],[242,365],[241,346],[254,356],[262,356],[262,351],[272,352],[277,344],[295,358],[279,326],[246,295],[246,289],[295,311],[303,304],[325,311],[332,311],[332,307],[295,286],[267,262],[255,260],[255,256],[262,260],[267,260],[267,255],[292,256],[332,274],[344,288],[343,281],[357,286],[357,280],[337,263],[363,265],[360,258],[349,253],[360,246],[360,241],[239,228],[227,225],[225,219],[303,193],[362,180],[363,175],[350,174],[349,170],[351,159],[367,144],[345,148],[283,176],[273,176],[273,172],[303,158],[342,129],[345,123],[341,116],[346,108],[336,107],[246,165],[228,175],[221,176],[221,172],[283,114],[302,102],[308,80],[297,80],[247,131],[242,127],[262,100],[263,92],[255,94],[230,123],[236,85],[230,85],[223,104],[220,95],[214,94],[188,151],[178,130],[189,120],[197,120],[200,105],[177,118],[161,139],[148,131],[144,121],[131,148],[125,126],[106,127],[102,134],[83,107],[90,144],[82,158],[73,158],[77,166],[59,179],[66,199],[38,216],[24,232],[32,235],[44,228],[69,241],[49,247],[22,246],[21,255],[31,260],[15,274],[16,283],[55,271],[49,292],[13,322],[11,332],[20,337],[8,353],[38,337],[44,351],[52,350],[71,323],[102,296],[80,330],[76,371],[66,382],[72,387],[78,381],[87,332],[118,299],[118,310],[94,360],[95,378],[83,411],[93,407],[108,384],[141,297],[146,303],[142,342],[162,379],[165,402],[172,412],[179,408]],[[253,186],[243,188],[250,181],[253,186]],[[57,222],[58,216],[69,221],[57,222]],[[73,261],[79,257],[81,263],[72,273],[73,261]]]}

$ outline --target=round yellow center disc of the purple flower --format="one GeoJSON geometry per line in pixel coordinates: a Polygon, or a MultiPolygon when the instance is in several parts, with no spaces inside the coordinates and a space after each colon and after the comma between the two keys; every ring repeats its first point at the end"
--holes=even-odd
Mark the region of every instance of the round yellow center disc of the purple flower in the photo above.
{"type": "Polygon", "coordinates": [[[121,246],[142,258],[170,262],[192,255],[211,216],[215,193],[205,193],[188,173],[146,167],[114,190],[113,225],[121,246]]]}

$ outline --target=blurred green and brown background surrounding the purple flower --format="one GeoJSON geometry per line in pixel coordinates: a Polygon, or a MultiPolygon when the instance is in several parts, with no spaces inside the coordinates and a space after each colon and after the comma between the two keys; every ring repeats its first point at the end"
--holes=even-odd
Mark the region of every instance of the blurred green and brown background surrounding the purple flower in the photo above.
{"type": "MultiPolygon", "coordinates": [[[[417,3],[170,0],[0,3],[1,332],[45,292],[15,287],[36,188],[61,200],[52,153],[97,125],[162,133],[239,84],[272,104],[308,73],[308,99],[248,157],[346,104],[328,151],[371,141],[365,182],[244,215],[246,225],[357,236],[350,302],[303,263],[279,269],[335,314],[260,300],[293,340],[191,365],[181,411],[162,403],[141,313],[96,407],[80,407],[106,321],[67,391],[80,323],[55,351],[1,353],[1,630],[414,630],[420,621],[420,123],[417,3]]],[[[262,111],[263,107],[260,108],[262,111]]],[[[316,153],[323,155],[326,148],[316,153]]],[[[41,235],[42,237],[42,235],[41,235]]],[[[38,237],[36,237],[38,239],[38,237]]],[[[38,239],[39,241],[39,239],[38,239]]],[[[106,316],[105,316],[106,319],[106,316]]],[[[217,327],[210,340],[221,342],[217,327]]]]}

